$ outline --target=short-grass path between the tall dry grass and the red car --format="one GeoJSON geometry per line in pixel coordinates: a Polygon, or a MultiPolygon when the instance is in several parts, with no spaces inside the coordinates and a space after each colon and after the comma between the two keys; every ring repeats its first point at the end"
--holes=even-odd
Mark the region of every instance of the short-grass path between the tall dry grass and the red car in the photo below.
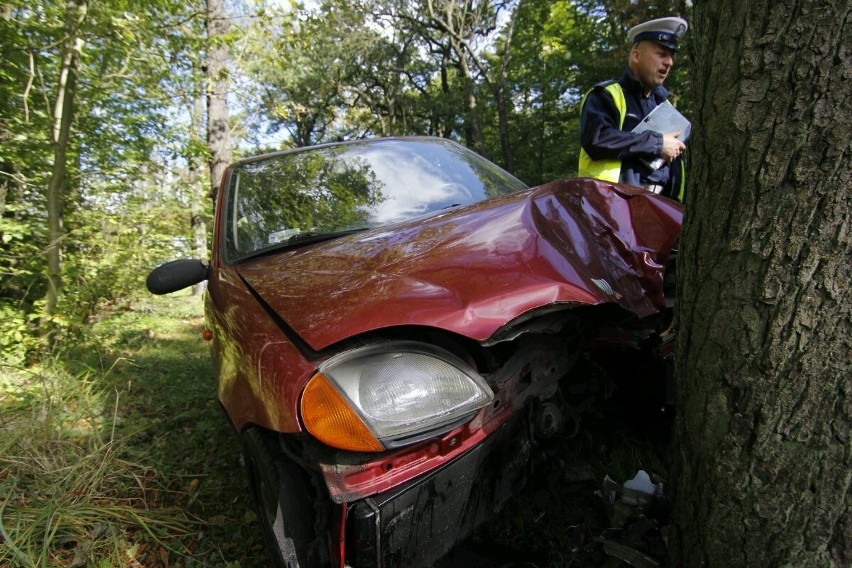
{"type": "Polygon", "coordinates": [[[146,456],[165,484],[167,495],[156,501],[197,520],[197,530],[172,547],[184,556],[150,566],[259,568],[267,564],[260,530],[239,444],[216,398],[201,312],[197,298],[148,300],[102,318],[101,341],[76,348],[69,360],[103,375],[115,435],[129,454],[146,456]]]}

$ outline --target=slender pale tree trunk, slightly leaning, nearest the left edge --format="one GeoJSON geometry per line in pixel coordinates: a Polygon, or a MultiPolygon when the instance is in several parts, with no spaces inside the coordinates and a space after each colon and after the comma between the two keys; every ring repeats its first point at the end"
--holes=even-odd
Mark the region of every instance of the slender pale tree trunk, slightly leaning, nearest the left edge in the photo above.
{"type": "MultiPolygon", "coordinates": [[[[59,84],[53,110],[53,170],[47,186],[47,295],[45,312],[56,313],[62,291],[63,201],[66,193],[68,144],[74,121],[74,95],[77,90],[77,65],[83,41],[78,37],[80,24],[86,17],[87,4],[68,0],[65,4],[65,34],[59,84]]],[[[47,330],[46,330],[47,331],[47,330]]]]}

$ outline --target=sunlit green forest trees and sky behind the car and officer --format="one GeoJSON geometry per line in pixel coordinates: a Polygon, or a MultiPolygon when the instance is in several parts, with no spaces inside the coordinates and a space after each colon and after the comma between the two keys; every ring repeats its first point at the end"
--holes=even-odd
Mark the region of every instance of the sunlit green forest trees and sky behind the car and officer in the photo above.
{"type": "MultiPolygon", "coordinates": [[[[629,27],[686,9],[3,2],[4,360],[24,364],[85,333],[158,263],[206,257],[216,163],[221,172],[270,150],[427,134],[530,185],[574,175],[583,93],[624,68],[629,27]]],[[[679,58],[669,86],[688,93],[688,40],[679,58]]],[[[688,113],[686,97],[675,101],[688,113]]]]}

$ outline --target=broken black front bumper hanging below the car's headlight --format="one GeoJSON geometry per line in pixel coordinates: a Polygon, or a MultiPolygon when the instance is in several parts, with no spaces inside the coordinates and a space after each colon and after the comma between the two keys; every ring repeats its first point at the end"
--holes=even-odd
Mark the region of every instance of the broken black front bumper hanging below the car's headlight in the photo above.
{"type": "Polygon", "coordinates": [[[445,466],[350,503],[346,565],[431,565],[524,486],[531,444],[529,421],[515,416],[445,466]]]}

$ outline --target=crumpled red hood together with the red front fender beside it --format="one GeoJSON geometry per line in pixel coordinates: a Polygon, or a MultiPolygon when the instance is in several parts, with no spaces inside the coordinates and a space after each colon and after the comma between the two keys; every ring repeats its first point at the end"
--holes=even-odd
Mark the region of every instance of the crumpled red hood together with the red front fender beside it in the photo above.
{"type": "Polygon", "coordinates": [[[650,316],[681,220],[674,201],[572,179],[234,266],[217,254],[207,315],[220,400],[238,430],[298,432],[324,358],[307,352],[349,338],[421,326],[485,342],[559,304],[650,316]]]}

